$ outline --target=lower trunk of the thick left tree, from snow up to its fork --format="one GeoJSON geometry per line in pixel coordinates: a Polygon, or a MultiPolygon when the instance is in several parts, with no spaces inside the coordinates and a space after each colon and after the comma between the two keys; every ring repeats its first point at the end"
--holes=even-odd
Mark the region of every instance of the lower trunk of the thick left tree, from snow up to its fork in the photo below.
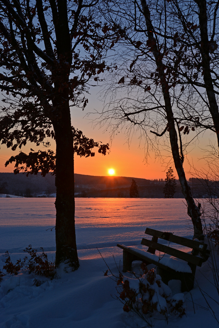
{"type": "Polygon", "coordinates": [[[62,106],[61,118],[53,123],[56,140],[56,258],[55,264],[79,267],[74,221],[74,153],[68,102],[62,106]]]}

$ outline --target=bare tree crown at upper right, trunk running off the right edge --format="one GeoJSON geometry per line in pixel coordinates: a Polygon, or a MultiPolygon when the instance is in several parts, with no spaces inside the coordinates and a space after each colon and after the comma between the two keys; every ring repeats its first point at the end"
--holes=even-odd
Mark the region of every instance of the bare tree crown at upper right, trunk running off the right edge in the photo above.
{"type": "MultiPolygon", "coordinates": [[[[181,96],[177,98],[179,115],[193,129],[213,131],[217,143],[218,6],[218,1],[171,1],[168,15],[173,23],[167,32],[167,38],[173,40],[173,47],[168,49],[168,77],[174,72],[175,83],[181,86],[181,96]]],[[[164,35],[164,31],[160,33],[164,35]]]]}

